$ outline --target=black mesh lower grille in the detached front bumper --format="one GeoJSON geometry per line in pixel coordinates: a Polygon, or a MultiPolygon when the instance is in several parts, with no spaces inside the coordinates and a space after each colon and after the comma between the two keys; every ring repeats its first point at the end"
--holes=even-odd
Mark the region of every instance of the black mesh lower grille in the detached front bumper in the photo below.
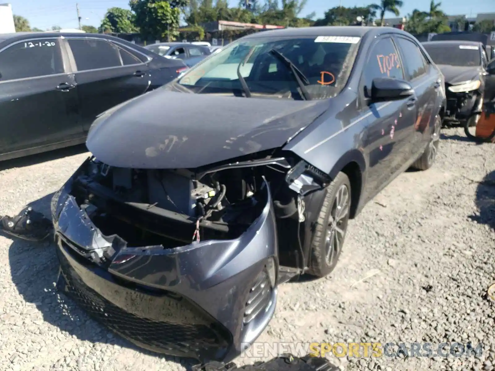
{"type": "MultiPolygon", "coordinates": [[[[160,307],[160,313],[164,314],[164,320],[170,321],[158,321],[130,313],[88,287],[78,277],[63,253],[59,255],[62,255],[59,256],[59,260],[65,279],[64,291],[95,320],[136,345],[154,352],[199,359],[214,359],[211,355],[219,355],[222,353],[219,350],[223,349],[226,352],[228,349],[228,331],[215,320],[208,319],[206,313],[202,313],[185,298],[157,297],[156,305],[160,307]],[[170,309],[168,314],[165,313],[167,307],[170,309]],[[187,324],[184,323],[185,318],[195,321],[187,324]]],[[[124,291],[126,289],[122,289],[122,293],[118,294],[129,296],[129,293],[124,291]]],[[[149,298],[152,300],[153,296],[148,294],[136,293],[135,297],[128,298],[127,301],[135,301],[136,307],[139,308],[142,305],[140,299],[145,297],[147,304],[143,306],[150,307],[149,298]]]]}

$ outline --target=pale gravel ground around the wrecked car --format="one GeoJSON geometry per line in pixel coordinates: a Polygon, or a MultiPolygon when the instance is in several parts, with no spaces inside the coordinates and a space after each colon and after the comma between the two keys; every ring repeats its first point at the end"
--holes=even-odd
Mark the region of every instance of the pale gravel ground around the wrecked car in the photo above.
{"type": "MultiPolygon", "coordinates": [[[[2,164],[0,214],[17,213],[29,202],[48,215],[51,193],[86,156],[76,147],[2,164]]],[[[495,280],[494,181],[495,145],[444,130],[434,168],[399,176],[350,222],[330,277],[279,288],[275,318],[258,341],[482,341],[478,358],[333,361],[342,370],[494,370],[494,304],[486,295],[495,280]]],[[[136,349],[57,295],[50,242],[0,236],[0,267],[0,370],[191,365],[136,349]]]]}

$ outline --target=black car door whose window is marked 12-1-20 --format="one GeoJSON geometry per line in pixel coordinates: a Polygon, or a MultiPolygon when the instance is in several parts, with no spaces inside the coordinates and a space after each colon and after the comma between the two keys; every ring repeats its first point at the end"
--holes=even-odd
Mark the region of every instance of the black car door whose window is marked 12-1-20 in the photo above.
{"type": "Polygon", "coordinates": [[[84,137],[62,50],[59,38],[25,39],[0,50],[0,153],[84,137]]]}

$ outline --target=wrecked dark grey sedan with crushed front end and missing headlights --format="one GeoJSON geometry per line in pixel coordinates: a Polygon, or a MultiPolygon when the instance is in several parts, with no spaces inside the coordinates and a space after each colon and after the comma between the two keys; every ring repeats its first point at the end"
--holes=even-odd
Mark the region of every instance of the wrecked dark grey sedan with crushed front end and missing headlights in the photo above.
{"type": "Polygon", "coordinates": [[[395,28],[229,44],[95,121],[94,156],[52,200],[58,287],[144,348],[236,357],[280,283],[332,272],[349,218],[407,168],[432,166],[443,84],[395,28]]]}

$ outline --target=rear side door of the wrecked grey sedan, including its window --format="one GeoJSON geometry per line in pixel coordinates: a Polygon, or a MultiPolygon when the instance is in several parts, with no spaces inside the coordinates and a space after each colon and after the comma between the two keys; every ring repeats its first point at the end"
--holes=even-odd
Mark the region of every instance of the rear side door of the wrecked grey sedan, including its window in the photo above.
{"type": "Polygon", "coordinates": [[[396,36],[395,41],[404,63],[406,80],[411,84],[417,96],[415,104],[406,108],[411,118],[415,117],[414,125],[409,126],[407,132],[409,138],[407,157],[412,160],[423,152],[431,135],[429,126],[433,124],[433,116],[438,109],[435,105],[440,88],[437,82],[439,76],[437,69],[433,68],[413,40],[396,36]]]}

